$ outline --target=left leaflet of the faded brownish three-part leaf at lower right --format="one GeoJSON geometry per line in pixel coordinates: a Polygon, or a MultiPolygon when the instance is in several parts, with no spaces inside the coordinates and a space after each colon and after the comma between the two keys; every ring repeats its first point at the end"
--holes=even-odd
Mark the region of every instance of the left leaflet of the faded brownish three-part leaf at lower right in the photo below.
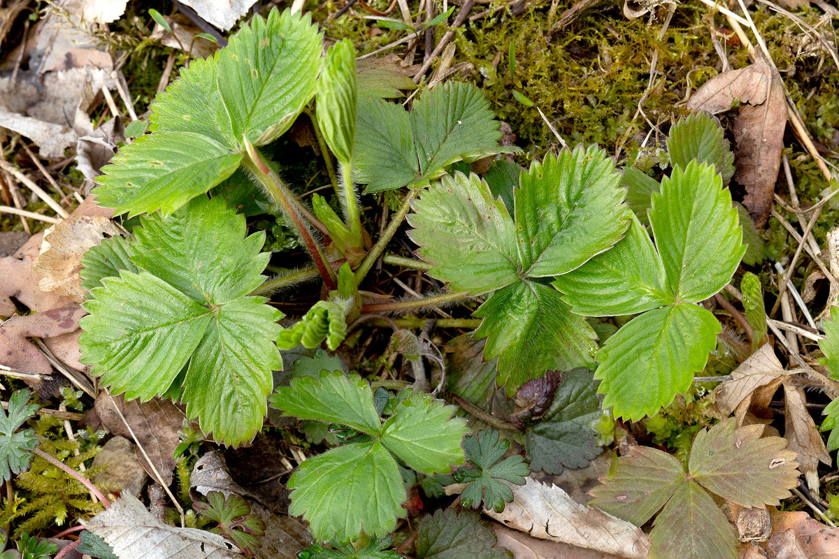
{"type": "Polygon", "coordinates": [[[630,447],[628,456],[618,458],[615,476],[591,489],[594,499],[589,505],[642,526],[661,510],[684,479],[685,468],[671,454],[630,447]]]}

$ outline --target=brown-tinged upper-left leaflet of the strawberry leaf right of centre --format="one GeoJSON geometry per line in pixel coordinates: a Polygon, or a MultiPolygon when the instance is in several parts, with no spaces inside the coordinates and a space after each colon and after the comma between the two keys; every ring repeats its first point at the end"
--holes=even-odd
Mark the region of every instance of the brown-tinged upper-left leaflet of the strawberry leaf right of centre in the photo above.
{"type": "Polygon", "coordinates": [[[430,275],[452,290],[480,294],[519,279],[515,224],[477,175],[456,173],[431,185],[408,223],[420,256],[435,265],[430,275]]]}

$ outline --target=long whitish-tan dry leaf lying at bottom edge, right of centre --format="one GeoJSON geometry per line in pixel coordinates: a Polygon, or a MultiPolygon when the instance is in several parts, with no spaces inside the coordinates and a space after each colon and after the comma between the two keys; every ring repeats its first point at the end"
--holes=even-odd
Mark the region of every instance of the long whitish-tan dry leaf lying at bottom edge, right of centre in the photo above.
{"type": "Polygon", "coordinates": [[[555,485],[549,487],[531,478],[524,485],[508,485],[513,489],[513,502],[503,512],[484,510],[483,514],[543,540],[629,559],[646,559],[649,554],[649,536],[640,528],[580,505],[555,485]]]}

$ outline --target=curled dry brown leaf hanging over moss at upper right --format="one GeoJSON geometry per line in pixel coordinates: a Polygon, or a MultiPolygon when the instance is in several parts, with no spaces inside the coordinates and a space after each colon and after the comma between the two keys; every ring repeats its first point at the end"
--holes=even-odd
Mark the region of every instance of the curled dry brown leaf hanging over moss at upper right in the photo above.
{"type": "Polygon", "coordinates": [[[762,227],[772,210],[787,122],[784,82],[778,70],[758,61],[740,70],[722,72],[702,85],[687,106],[716,114],[736,103],[740,114],[734,123],[734,179],[746,187],[743,205],[755,225],[762,227]]]}

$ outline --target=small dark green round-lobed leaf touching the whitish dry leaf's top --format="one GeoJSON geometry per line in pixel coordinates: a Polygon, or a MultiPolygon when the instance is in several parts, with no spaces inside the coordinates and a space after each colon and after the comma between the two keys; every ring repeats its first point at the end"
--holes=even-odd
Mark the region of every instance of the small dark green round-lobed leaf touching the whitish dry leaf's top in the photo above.
{"type": "Polygon", "coordinates": [[[461,468],[454,474],[458,483],[468,484],[461,493],[461,505],[466,508],[477,509],[483,502],[486,509],[503,511],[504,503],[513,500],[513,490],[498,480],[505,479],[511,484],[523,485],[524,476],[530,473],[530,468],[519,454],[496,463],[510,446],[507,439],[499,440],[498,437],[498,431],[490,429],[487,432],[479,431],[476,436],[466,437],[463,441],[466,459],[476,466],[461,468]]]}

